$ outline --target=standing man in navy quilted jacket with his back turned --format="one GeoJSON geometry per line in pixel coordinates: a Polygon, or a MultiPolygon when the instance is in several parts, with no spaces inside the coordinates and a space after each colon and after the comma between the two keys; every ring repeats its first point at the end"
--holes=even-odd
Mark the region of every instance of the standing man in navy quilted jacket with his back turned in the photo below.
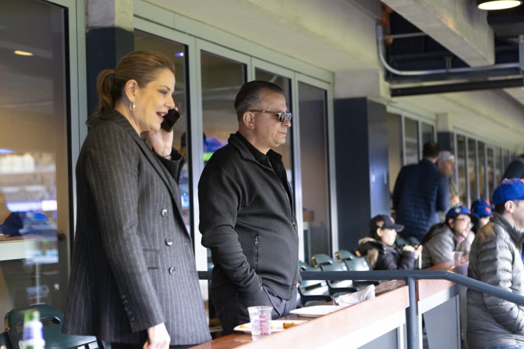
{"type": "Polygon", "coordinates": [[[405,227],[403,238],[414,238],[410,244],[418,244],[429,228],[439,222],[439,211],[446,211],[450,202],[449,181],[435,166],[439,145],[425,143],[422,157],[418,164],[402,167],[393,190],[395,220],[405,227]]]}

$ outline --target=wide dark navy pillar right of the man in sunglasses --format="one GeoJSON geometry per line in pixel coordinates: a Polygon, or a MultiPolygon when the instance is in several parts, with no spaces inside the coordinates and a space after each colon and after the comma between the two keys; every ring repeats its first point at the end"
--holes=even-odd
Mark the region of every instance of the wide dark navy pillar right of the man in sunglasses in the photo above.
{"type": "Polygon", "coordinates": [[[335,99],[334,111],[339,248],[353,251],[390,212],[387,112],[367,98],[335,99]]]}

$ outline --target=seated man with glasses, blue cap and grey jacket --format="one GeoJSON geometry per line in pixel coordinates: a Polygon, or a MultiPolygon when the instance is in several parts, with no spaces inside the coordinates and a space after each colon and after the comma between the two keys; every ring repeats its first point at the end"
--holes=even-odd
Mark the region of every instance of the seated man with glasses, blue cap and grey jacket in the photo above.
{"type": "MultiPolygon", "coordinates": [[[[476,221],[476,217],[464,206],[447,211],[445,221],[435,224],[422,238],[422,268],[449,262],[454,251],[463,251],[461,243],[471,232],[472,220],[476,221]]],[[[467,254],[468,251],[463,252],[467,254]]]]}

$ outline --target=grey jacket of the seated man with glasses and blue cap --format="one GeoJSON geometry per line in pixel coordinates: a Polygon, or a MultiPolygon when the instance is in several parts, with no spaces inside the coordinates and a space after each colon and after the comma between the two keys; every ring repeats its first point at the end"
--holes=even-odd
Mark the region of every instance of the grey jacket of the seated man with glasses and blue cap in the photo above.
{"type": "Polygon", "coordinates": [[[422,269],[451,261],[459,241],[446,223],[435,224],[422,238],[422,269]]]}

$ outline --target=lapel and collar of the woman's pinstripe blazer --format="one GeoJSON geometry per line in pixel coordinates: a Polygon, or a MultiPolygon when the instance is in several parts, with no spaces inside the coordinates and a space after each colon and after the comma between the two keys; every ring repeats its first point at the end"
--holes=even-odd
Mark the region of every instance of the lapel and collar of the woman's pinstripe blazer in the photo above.
{"type": "MultiPolygon", "coordinates": [[[[127,120],[126,117],[121,114],[121,112],[115,109],[104,112],[100,116],[100,119],[113,121],[129,133],[129,135],[133,138],[133,140],[138,144],[138,147],[140,148],[141,152],[144,154],[146,159],[151,163],[151,166],[155,168],[160,178],[162,178],[162,181],[165,183],[169,191],[169,194],[171,195],[171,199],[173,199],[174,202],[178,202],[180,198],[177,198],[178,195],[173,190],[174,185],[176,185],[176,183],[174,183],[173,177],[169,174],[169,172],[167,171],[167,168],[160,162],[160,160],[153,153],[153,151],[149,149],[146,142],[140,138],[140,136],[135,131],[135,129],[133,128],[129,120],[127,120]]],[[[176,211],[175,214],[179,217],[180,221],[183,223],[183,218],[180,213],[180,210],[177,209],[175,211],[176,211]]]]}

